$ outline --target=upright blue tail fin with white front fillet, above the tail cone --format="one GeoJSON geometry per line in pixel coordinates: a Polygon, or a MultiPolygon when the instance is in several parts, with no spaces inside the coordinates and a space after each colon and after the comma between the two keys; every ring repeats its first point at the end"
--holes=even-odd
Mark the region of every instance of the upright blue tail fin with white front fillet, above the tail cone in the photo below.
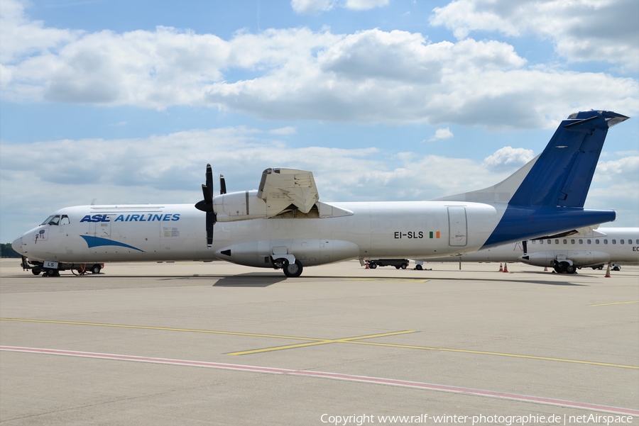
{"type": "Polygon", "coordinates": [[[437,200],[583,208],[608,128],[624,120],[612,111],[571,114],[545,150],[504,181],[437,200]]]}

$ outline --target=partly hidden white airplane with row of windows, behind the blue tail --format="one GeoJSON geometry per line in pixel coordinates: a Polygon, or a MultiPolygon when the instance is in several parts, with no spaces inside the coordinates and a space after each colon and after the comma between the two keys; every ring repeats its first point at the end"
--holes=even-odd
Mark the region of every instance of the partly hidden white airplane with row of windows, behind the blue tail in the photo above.
{"type": "MultiPolygon", "coordinates": [[[[639,264],[639,228],[599,228],[574,230],[570,235],[537,238],[461,256],[420,259],[423,262],[523,262],[550,267],[555,272],[575,274],[578,268],[601,269],[604,264],[639,264]]],[[[618,267],[617,267],[618,268],[618,267]]]]}

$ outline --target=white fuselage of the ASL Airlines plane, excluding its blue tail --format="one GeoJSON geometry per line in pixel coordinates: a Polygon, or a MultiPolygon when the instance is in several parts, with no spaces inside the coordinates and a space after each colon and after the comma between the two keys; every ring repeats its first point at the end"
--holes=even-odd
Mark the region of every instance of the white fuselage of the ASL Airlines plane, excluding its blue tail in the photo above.
{"type": "Polygon", "coordinates": [[[75,206],[55,213],[67,216],[60,224],[40,225],[13,245],[31,260],[73,263],[223,259],[271,267],[268,258],[278,252],[293,254],[305,266],[425,258],[479,250],[506,208],[457,201],[332,206],[352,214],[218,222],[210,249],[204,213],[190,204],[75,206]]]}

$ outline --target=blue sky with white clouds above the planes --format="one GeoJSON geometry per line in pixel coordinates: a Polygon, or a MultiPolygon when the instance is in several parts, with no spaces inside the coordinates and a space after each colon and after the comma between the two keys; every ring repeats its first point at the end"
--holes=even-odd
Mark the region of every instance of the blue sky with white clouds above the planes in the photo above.
{"type": "Polygon", "coordinates": [[[65,206],[481,189],[610,110],[586,208],[639,226],[639,1],[0,0],[0,242],[65,206]],[[216,190],[219,189],[216,184],[216,190]]]}

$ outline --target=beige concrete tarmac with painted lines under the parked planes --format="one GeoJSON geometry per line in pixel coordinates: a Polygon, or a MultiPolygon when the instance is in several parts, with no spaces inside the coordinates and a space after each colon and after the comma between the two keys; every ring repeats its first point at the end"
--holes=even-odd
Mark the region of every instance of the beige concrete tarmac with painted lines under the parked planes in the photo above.
{"type": "Polygon", "coordinates": [[[0,424],[639,423],[639,267],[425,267],[0,259],[0,424]]]}

